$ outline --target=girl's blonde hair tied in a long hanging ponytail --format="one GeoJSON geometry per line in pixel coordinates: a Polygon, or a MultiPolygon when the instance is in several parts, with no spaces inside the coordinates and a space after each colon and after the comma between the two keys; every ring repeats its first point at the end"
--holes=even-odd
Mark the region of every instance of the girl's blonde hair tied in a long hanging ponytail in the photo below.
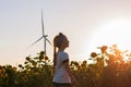
{"type": "Polygon", "coordinates": [[[57,64],[57,48],[60,48],[63,39],[67,38],[62,33],[59,33],[59,35],[57,35],[53,38],[53,66],[56,66],[57,64]]]}

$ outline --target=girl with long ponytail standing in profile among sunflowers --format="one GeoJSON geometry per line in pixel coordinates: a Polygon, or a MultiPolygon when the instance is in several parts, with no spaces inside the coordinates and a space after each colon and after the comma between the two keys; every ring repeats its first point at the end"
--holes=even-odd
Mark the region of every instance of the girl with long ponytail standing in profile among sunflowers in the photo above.
{"type": "Polygon", "coordinates": [[[53,38],[53,79],[55,87],[76,87],[76,80],[73,77],[69,55],[64,49],[69,47],[69,40],[63,34],[53,38]],[[56,51],[58,48],[58,51],[56,51]]]}

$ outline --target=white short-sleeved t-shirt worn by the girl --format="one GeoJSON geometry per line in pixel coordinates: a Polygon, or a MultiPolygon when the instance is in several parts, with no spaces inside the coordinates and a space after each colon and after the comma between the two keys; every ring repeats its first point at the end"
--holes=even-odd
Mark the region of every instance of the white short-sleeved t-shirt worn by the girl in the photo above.
{"type": "Polygon", "coordinates": [[[66,71],[63,61],[69,60],[68,53],[59,51],[57,53],[57,65],[55,67],[53,83],[71,83],[69,74],[66,71]]]}

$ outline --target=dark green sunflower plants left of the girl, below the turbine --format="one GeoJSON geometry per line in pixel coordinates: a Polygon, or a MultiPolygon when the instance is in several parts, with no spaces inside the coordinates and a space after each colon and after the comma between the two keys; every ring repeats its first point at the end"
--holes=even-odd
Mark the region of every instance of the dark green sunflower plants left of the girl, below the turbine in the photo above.
{"type": "Polygon", "coordinates": [[[52,87],[51,62],[41,51],[38,57],[26,57],[17,71],[11,65],[0,67],[0,87],[52,87]]]}

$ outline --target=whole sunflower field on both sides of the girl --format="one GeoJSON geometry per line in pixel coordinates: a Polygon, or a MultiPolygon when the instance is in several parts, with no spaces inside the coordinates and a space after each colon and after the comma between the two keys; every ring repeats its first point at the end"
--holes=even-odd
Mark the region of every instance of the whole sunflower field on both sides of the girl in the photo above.
{"type": "MultiPolygon", "coordinates": [[[[92,52],[88,61],[71,61],[70,67],[79,87],[131,87],[131,52],[116,45],[103,46],[92,52]]],[[[0,66],[0,87],[53,87],[52,62],[41,51],[38,57],[26,57],[24,65],[0,66]]]]}

